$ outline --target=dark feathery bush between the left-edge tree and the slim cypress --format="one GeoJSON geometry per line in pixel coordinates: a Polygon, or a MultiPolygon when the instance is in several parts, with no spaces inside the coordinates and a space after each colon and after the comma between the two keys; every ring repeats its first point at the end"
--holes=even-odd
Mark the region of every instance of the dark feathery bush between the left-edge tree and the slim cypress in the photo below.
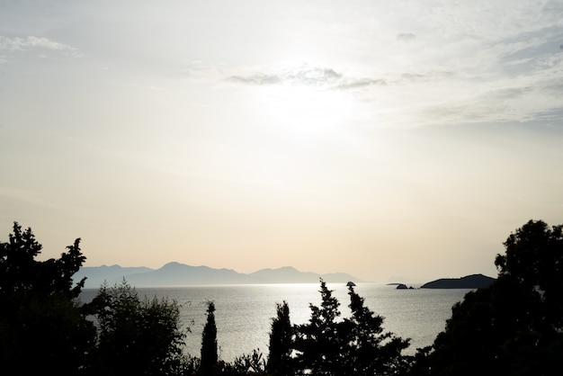
{"type": "Polygon", "coordinates": [[[175,300],[140,300],[123,280],[112,288],[104,284],[88,309],[99,327],[94,374],[174,375],[189,362],[175,300]]]}

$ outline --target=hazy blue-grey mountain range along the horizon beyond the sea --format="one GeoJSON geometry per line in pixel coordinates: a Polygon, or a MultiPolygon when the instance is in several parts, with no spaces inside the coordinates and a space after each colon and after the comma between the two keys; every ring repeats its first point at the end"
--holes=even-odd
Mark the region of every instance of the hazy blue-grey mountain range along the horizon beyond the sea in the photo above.
{"type": "Polygon", "coordinates": [[[168,263],[159,269],[147,267],[84,266],[74,275],[78,282],[87,277],[85,288],[99,288],[103,282],[112,286],[125,279],[131,286],[172,287],[202,284],[260,284],[260,283],[317,283],[319,278],[325,282],[362,282],[350,274],[299,272],[285,266],[278,269],[262,269],[254,273],[238,273],[232,269],[213,269],[209,266],[191,266],[168,263]]]}

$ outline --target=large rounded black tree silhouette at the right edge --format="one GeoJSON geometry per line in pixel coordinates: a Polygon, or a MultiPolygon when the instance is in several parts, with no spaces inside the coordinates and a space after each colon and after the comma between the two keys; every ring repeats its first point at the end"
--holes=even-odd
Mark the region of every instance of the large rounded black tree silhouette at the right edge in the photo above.
{"type": "Polygon", "coordinates": [[[563,367],[562,226],[530,220],[504,245],[496,282],[453,306],[430,374],[548,375],[563,367]]]}

